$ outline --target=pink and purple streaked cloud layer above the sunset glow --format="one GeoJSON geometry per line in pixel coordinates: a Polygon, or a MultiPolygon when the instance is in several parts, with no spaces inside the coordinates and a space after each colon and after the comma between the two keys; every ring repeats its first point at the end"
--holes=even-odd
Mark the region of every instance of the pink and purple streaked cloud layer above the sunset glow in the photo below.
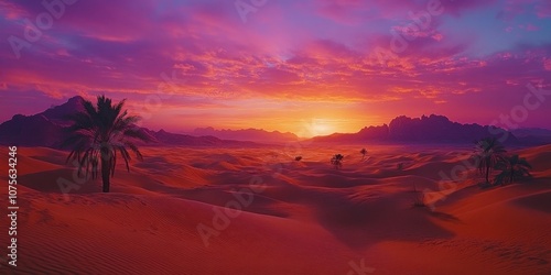
{"type": "MultiPolygon", "coordinates": [[[[442,0],[444,13],[410,32],[409,12],[422,12],[426,3],[270,1],[242,23],[231,1],[78,1],[21,58],[8,43],[0,46],[8,68],[0,89],[40,91],[52,100],[108,92],[141,101],[170,91],[174,109],[181,103],[192,110],[227,108],[218,100],[241,108],[251,102],[246,100],[413,100],[411,107],[421,109],[466,106],[474,95],[489,99],[547,77],[549,37],[494,32],[507,25],[542,30],[549,23],[545,1],[442,0]],[[390,31],[408,33],[407,46],[381,66],[374,53],[392,51],[390,31]],[[478,42],[491,51],[480,54],[478,42]]],[[[3,36],[22,37],[22,19],[44,12],[40,2],[0,4],[3,36]]]]}

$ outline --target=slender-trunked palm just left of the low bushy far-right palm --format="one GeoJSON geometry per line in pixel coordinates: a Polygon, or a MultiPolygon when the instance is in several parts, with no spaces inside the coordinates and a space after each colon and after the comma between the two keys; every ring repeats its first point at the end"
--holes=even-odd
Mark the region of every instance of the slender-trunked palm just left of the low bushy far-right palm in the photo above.
{"type": "Polygon", "coordinates": [[[476,143],[475,160],[477,160],[477,168],[480,174],[486,175],[486,184],[489,184],[489,174],[496,164],[504,160],[504,145],[496,138],[485,138],[476,143]]]}

